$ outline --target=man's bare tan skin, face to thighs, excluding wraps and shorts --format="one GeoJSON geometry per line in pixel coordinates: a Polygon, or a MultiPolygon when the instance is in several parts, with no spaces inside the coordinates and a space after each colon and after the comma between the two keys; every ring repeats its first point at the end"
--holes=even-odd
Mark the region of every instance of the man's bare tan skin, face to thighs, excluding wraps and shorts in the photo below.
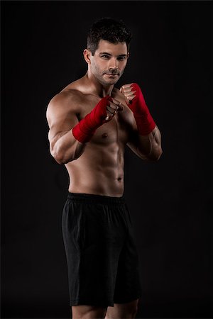
{"type": "MultiPolygon", "coordinates": [[[[59,164],[65,164],[72,193],[120,197],[124,194],[125,146],[141,159],[151,161],[158,160],[162,153],[157,126],[149,135],[138,135],[133,113],[127,106],[135,97],[131,84],[120,90],[114,87],[128,57],[126,43],[100,40],[94,55],[84,50],[87,74],[66,86],[48,105],[50,152],[59,164]],[[72,128],[108,94],[113,101],[107,106],[107,123],[96,130],[89,142],[78,142],[72,128]]],[[[108,308],[73,306],[72,315],[74,319],[134,318],[137,303],[136,300],[108,308]]]]}

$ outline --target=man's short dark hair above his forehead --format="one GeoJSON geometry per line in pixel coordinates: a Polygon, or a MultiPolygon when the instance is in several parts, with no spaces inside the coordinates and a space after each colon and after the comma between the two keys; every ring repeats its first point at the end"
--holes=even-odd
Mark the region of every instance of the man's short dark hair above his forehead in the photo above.
{"type": "Polygon", "coordinates": [[[122,20],[116,21],[112,18],[100,18],[92,24],[87,35],[87,49],[92,52],[97,50],[100,40],[107,40],[110,43],[125,42],[129,51],[131,32],[126,28],[122,20]]]}

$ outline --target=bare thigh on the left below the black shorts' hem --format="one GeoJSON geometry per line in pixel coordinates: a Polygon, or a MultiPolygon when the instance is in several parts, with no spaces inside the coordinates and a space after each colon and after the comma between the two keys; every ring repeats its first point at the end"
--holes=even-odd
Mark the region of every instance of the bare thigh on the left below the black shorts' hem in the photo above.
{"type": "Polygon", "coordinates": [[[105,317],[107,308],[94,306],[72,306],[72,319],[101,319],[105,317]]]}

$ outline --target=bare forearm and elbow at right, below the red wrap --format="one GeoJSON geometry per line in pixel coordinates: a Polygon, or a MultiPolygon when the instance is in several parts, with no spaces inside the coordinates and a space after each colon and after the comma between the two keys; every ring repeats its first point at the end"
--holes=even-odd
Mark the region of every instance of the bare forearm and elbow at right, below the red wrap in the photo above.
{"type": "Polygon", "coordinates": [[[138,155],[143,159],[155,161],[162,154],[161,135],[157,126],[148,135],[138,135],[138,155]]]}

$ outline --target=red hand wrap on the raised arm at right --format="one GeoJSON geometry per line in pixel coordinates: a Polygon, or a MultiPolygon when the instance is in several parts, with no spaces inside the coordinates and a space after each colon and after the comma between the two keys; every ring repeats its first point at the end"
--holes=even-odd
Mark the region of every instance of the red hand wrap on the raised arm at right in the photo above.
{"type": "Polygon", "coordinates": [[[136,91],[136,96],[131,101],[131,104],[129,104],[129,108],[133,111],[133,115],[138,126],[138,133],[141,135],[148,135],[155,128],[155,122],[151,113],[148,111],[140,86],[133,83],[131,87],[133,88],[132,91],[136,91]]]}

